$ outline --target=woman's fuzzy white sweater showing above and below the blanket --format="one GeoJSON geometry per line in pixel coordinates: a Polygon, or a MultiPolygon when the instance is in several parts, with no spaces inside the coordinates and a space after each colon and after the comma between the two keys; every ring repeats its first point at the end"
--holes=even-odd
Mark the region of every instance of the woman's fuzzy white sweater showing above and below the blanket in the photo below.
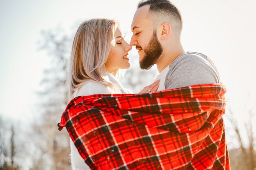
{"type": "MultiPolygon", "coordinates": [[[[118,80],[111,74],[108,73],[108,78],[112,83],[117,84],[119,86],[120,91],[112,90],[110,87],[105,86],[99,82],[95,81],[88,81],[84,84],[81,88],[74,92],[74,97],[77,96],[88,96],[88,95],[95,95],[95,94],[124,94],[130,93],[127,89],[125,89],[118,80]]],[[[90,167],[85,163],[85,161],[80,156],[76,146],[74,145],[72,139],[70,139],[70,161],[72,170],[90,170],[90,167]]]]}

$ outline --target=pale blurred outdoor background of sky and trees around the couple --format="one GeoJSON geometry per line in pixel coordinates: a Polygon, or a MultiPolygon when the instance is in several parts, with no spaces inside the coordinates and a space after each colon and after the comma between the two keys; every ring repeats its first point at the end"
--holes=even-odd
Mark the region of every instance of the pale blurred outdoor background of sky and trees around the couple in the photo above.
{"type": "MultiPolygon", "coordinates": [[[[0,0],[0,170],[71,170],[69,136],[57,123],[67,104],[66,64],[79,24],[119,20],[126,41],[139,0],[0,0]]],[[[227,86],[232,170],[256,169],[256,1],[173,0],[185,51],[208,55],[227,86]]],[[[122,84],[139,92],[158,75],[138,54],[122,84]]]]}

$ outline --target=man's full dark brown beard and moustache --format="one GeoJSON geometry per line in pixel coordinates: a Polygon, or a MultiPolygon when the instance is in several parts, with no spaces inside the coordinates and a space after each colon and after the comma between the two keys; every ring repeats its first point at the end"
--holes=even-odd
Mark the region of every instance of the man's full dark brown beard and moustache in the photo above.
{"type": "MultiPolygon", "coordinates": [[[[139,48],[140,46],[136,47],[139,48]]],[[[156,63],[157,59],[163,52],[163,48],[160,42],[157,40],[156,30],[153,31],[153,35],[143,51],[145,54],[143,59],[139,62],[139,66],[141,69],[148,70],[156,63]]]]}

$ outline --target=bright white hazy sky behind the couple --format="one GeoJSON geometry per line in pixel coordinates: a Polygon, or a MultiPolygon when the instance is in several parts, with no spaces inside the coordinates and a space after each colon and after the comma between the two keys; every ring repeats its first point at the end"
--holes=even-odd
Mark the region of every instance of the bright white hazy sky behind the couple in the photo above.
{"type": "MultiPolygon", "coordinates": [[[[49,65],[47,53],[39,50],[41,31],[61,27],[73,33],[83,20],[110,18],[119,20],[130,42],[138,2],[0,0],[0,115],[29,122],[36,114],[36,91],[49,65]]],[[[227,86],[227,106],[242,121],[256,106],[256,1],[172,2],[182,13],[184,50],[204,53],[213,60],[227,86]]],[[[135,49],[131,53],[137,54],[135,49]]]]}

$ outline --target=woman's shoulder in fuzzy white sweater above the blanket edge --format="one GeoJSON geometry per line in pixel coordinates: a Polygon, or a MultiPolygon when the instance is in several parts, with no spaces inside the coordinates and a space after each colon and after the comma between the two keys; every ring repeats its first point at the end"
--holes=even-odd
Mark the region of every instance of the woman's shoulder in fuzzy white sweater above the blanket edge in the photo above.
{"type": "Polygon", "coordinates": [[[105,84],[90,80],[74,92],[74,97],[112,93],[113,90],[105,84]]]}

